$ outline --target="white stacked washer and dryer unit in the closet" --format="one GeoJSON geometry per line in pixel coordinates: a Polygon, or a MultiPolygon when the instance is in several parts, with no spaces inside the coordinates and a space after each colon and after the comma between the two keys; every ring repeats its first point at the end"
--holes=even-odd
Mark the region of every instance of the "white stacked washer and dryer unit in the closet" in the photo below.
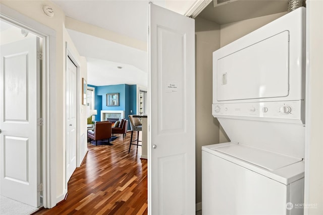
{"type": "Polygon", "coordinates": [[[304,8],[213,52],[231,142],[202,147],[203,214],[303,214],[304,99],[304,8]]]}

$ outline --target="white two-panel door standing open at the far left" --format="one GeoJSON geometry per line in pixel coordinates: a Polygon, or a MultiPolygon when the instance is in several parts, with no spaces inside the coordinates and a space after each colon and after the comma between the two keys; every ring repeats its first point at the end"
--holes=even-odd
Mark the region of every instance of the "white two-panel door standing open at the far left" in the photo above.
{"type": "Polygon", "coordinates": [[[1,195],[40,206],[39,38],[1,45],[1,195]]]}

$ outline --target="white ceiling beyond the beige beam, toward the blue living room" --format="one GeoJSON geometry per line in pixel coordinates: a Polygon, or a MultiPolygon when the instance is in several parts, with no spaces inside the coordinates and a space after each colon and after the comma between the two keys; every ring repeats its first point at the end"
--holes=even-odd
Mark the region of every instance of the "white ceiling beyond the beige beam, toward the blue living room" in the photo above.
{"type": "Polygon", "coordinates": [[[73,30],[68,32],[80,55],[87,59],[88,84],[136,84],[147,87],[146,51],[73,30]]]}

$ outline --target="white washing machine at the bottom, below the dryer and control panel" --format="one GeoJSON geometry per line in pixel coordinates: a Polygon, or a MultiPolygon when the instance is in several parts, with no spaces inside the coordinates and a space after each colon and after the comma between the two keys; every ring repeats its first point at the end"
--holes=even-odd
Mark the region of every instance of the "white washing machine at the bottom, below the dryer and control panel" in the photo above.
{"type": "Polygon", "coordinates": [[[303,190],[302,159],[232,142],[202,148],[203,214],[303,214],[289,203],[303,190]]]}

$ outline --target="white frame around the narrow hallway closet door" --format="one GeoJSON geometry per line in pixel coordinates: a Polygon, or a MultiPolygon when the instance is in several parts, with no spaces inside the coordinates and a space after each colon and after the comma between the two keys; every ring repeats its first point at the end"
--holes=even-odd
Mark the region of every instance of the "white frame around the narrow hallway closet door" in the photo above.
{"type": "MultiPolygon", "coordinates": [[[[68,58],[70,58],[72,60],[72,62],[74,63],[74,65],[76,66],[76,167],[80,167],[81,166],[81,158],[80,158],[80,141],[81,141],[81,137],[80,137],[80,126],[79,126],[79,122],[80,122],[80,104],[81,104],[81,97],[80,97],[80,86],[81,86],[81,82],[80,82],[80,62],[77,60],[77,58],[75,58],[74,56],[77,56],[75,54],[75,52],[73,51],[73,49],[68,45],[68,42],[65,42],[65,47],[66,47],[66,56],[65,56],[65,71],[67,73],[68,70],[68,65],[67,65],[67,61],[68,58]]],[[[66,75],[66,74],[65,74],[66,75]]],[[[65,79],[66,80],[66,79],[65,79]]],[[[66,85],[67,83],[65,83],[65,91],[66,91],[66,85]]],[[[65,94],[66,95],[66,94],[65,94]]],[[[65,98],[66,101],[66,98],[65,98]]],[[[66,103],[65,103],[65,113],[66,113],[66,103]]],[[[66,115],[65,115],[65,124],[66,124],[66,115]]],[[[65,138],[67,138],[66,132],[67,132],[67,127],[65,128],[65,138]]],[[[66,145],[67,139],[65,139],[65,145],[66,145]]],[[[66,159],[66,146],[65,146],[65,159],[66,159]]],[[[65,161],[65,193],[67,193],[67,185],[68,185],[68,180],[67,180],[67,166],[66,166],[66,161],[65,161]]]]}

